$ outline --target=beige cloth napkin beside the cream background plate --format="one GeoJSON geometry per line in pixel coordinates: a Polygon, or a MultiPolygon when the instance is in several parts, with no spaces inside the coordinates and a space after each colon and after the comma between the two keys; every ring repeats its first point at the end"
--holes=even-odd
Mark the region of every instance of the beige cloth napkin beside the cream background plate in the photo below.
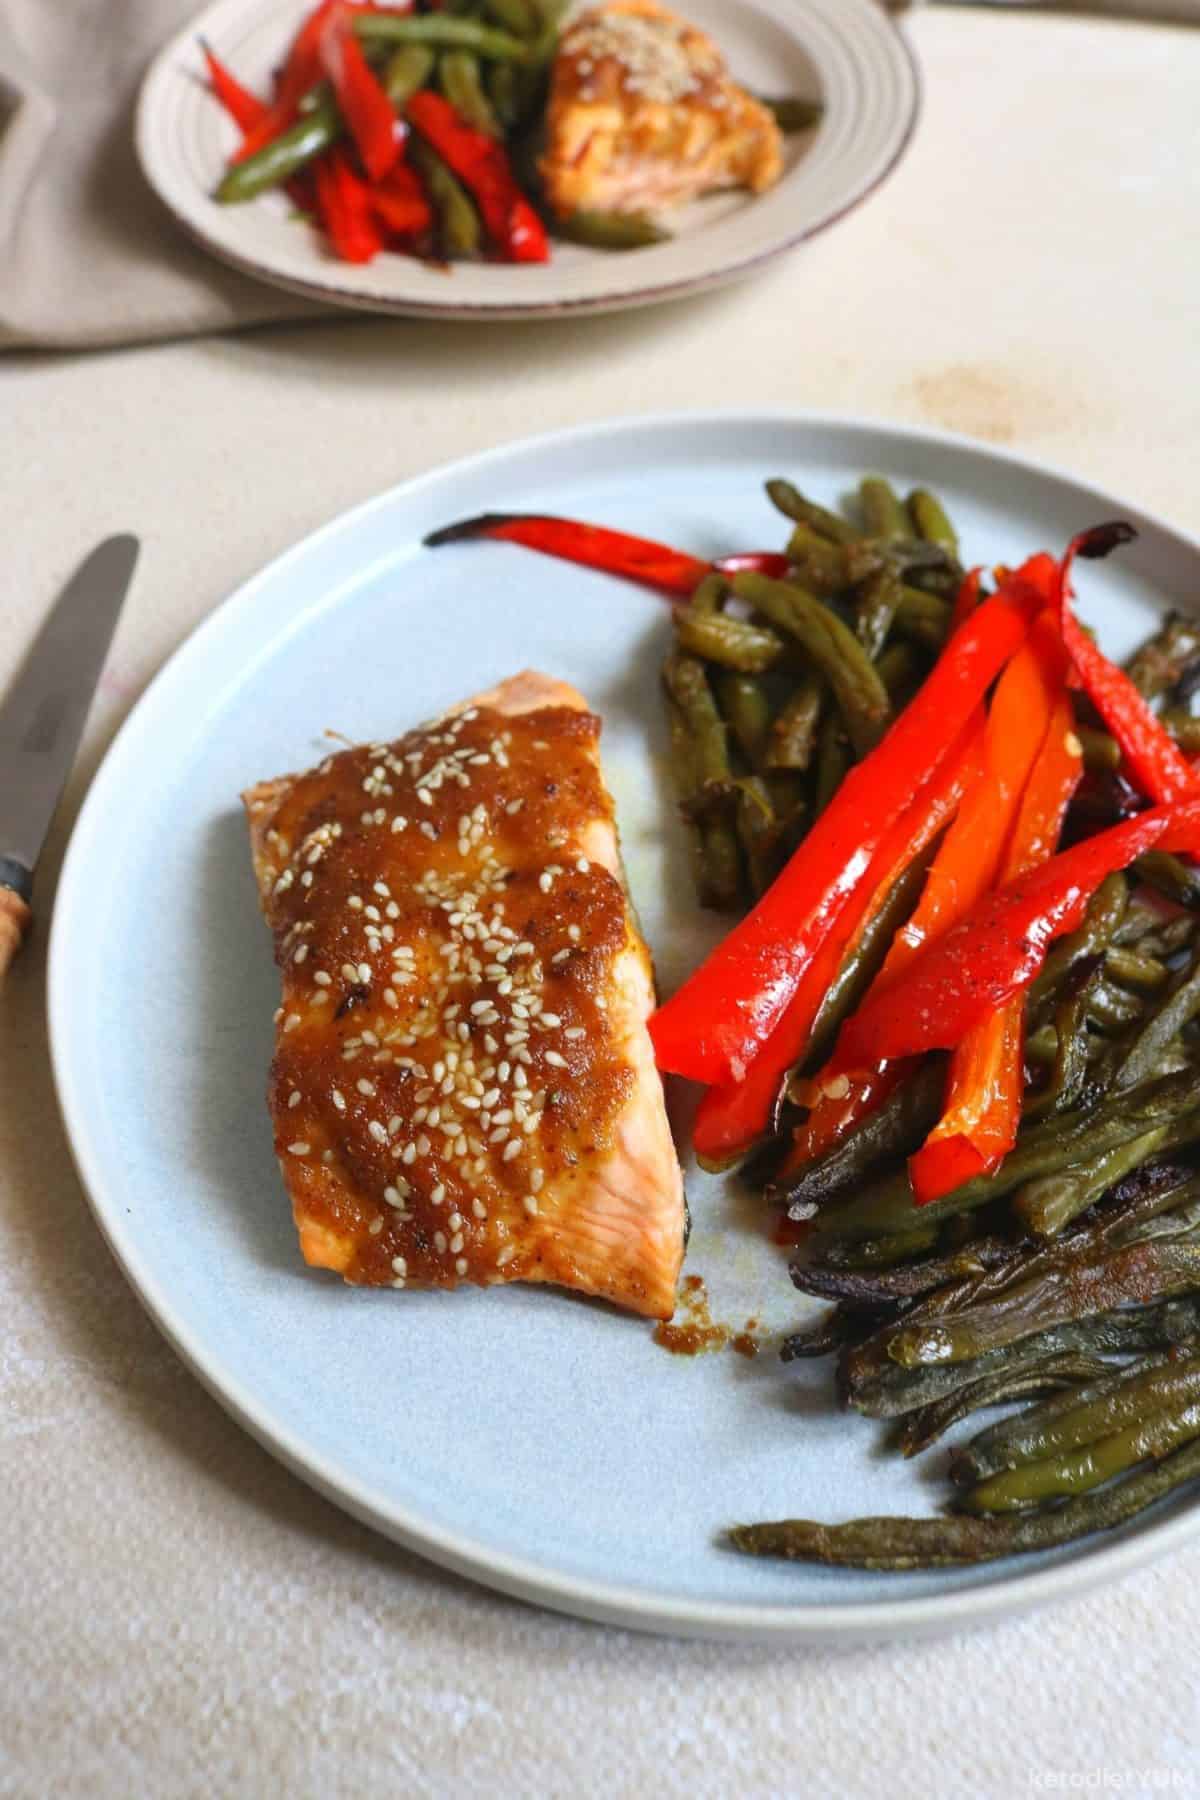
{"type": "MultiPolygon", "coordinates": [[[[1200,22],[1200,0],[1067,5],[1200,22]]],[[[320,317],[193,247],[137,166],[139,79],[196,11],[196,0],[0,0],[0,349],[320,317]]]]}

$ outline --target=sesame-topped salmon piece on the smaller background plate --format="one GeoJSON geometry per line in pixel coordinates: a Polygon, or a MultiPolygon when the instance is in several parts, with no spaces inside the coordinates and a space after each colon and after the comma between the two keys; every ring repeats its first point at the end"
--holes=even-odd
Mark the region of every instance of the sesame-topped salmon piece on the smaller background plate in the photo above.
{"type": "Polygon", "coordinates": [[[640,212],[783,173],[772,113],[705,32],[657,0],[610,0],[563,32],[540,175],[551,207],[640,212]]]}

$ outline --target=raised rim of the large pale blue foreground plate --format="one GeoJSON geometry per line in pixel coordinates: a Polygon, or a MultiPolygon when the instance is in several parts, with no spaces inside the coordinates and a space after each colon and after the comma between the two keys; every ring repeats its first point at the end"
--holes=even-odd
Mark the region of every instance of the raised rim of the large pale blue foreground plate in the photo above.
{"type": "Polygon", "coordinates": [[[255,1400],[254,1393],[237,1377],[221,1368],[219,1357],[205,1352],[203,1334],[200,1334],[201,1341],[196,1341],[196,1334],[173,1316],[169,1292],[144,1267],[135,1231],[122,1224],[119,1199],[106,1193],[110,1183],[104,1179],[103,1163],[90,1145],[85,1109],[76,1093],[70,1053],[67,936],[72,923],[72,911],[77,911],[81,900],[86,904],[85,877],[90,839],[95,835],[97,821],[103,821],[104,806],[108,805],[108,787],[117,781],[121,774],[119,765],[130,756],[130,747],[137,745],[146,722],[153,722],[153,711],[158,706],[158,695],[164,688],[178,679],[178,670],[201,641],[216,637],[228,626],[236,614],[252,610],[259,587],[277,580],[291,562],[311,554],[320,542],[336,538],[340,533],[353,535],[360,520],[367,518],[372,511],[385,509],[398,499],[419,491],[423,486],[435,486],[452,472],[486,473],[489,466],[504,464],[513,455],[552,454],[558,448],[596,441],[597,437],[619,437],[626,432],[662,432],[671,436],[680,428],[694,434],[696,430],[720,432],[730,427],[738,427],[739,430],[777,430],[781,425],[808,434],[892,436],[914,445],[964,454],[981,463],[1000,463],[1025,475],[1033,473],[1042,479],[1049,477],[1054,482],[1067,482],[1069,486],[1087,490],[1101,508],[1110,509],[1112,517],[1135,513],[1155,533],[1171,540],[1180,553],[1193,556],[1200,563],[1200,540],[1141,504],[1128,506],[1108,490],[1094,486],[1058,463],[1024,455],[1018,450],[990,445],[957,432],[910,425],[903,419],[871,418],[869,414],[808,412],[797,409],[700,409],[622,414],[565,430],[516,437],[466,457],[448,457],[434,468],[394,482],[367,500],[345,508],[270,558],[270,562],[241,581],[232,594],[205,614],[153,675],[108,745],[70,830],[54,895],[47,947],[47,1022],[54,1089],[70,1156],[92,1217],[137,1300],[182,1363],[218,1404],[272,1456],[300,1476],[309,1487],[317,1489],[326,1499],[365,1525],[371,1525],[394,1543],[399,1543],[403,1548],[455,1575],[574,1618],[635,1631],[720,1642],[860,1643],[900,1636],[927,1636],[981,1625],[1004,1615],[1070,1598],[1101,1582],[1117,1580],[1195,1537],[1200,1532],[1200,1498],[1182,1512],[1135,1530],[1117,1543],[1105,1543],[1101,1537],[1097,1548],[1070,1561],[1054,1562],[1047,1568],[1027,1568],[1018,1575],[999,1579],[982,1588],[964,1588],[952,1593],[932,1593],[914,1598],[851,1600],[842,1604],[815,1604],[808,1600],[795,1604],[689,1600],[666,1595],[651,1597],[639,1588],[621,1582],[596,1582],[563,1571],[547,1571],[529,1557],[500,1552],[462,1532],[446,1530],[434,1517],[412,1507],[396,1507],[367,1481],[338,1474],[335,1462],[306,1447],[297,1433],[273,1420],[270,1404],[255,1400]]]}

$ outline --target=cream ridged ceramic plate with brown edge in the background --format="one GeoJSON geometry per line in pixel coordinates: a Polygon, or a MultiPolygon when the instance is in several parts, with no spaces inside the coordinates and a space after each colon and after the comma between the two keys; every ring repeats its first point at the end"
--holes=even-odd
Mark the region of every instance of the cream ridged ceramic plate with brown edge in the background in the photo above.
{"type": "Polygon", "coordinates": [[[669,243],[635,252],[554,245],[520,268],[405,256],[338,263],[281,194],[221,207],[212,191],[237,133],[205,86],[207,38],[257,92],[311,0],[216,0],[155,59],[137,117],[151,185],[216,256],[295,293],[369,311],[522,319],[640,306],[718,286],[811,238],[871,193],[901,155],[918,115],[912,56],[878,0],[689,0],[685,11],[725,50],[734,76],[765,94],[824,103],[815,133],[788,140],[788,169],[768,194],[718,196],[685,209],[669,243]]]}

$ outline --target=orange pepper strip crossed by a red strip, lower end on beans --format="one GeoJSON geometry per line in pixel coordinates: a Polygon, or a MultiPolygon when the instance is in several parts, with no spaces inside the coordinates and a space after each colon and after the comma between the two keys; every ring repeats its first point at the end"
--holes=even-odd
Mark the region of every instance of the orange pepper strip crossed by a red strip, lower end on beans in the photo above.
{"type": "MultiPolygon", "coordinates": [[[[1031,653],[1043,650],[1051,655],[1058,652],[1051,670],[1058,673],[1060,689],[1051,702],[1038,760],[1029,772],[1013,826],[1000,871],[1002,882],[1011,882],[1049,860],[1058,848],[1067,806],[1083,774],[1083,751],[1063,686],[1061,646],[1056,641],[1047,643],[1045,634],[1038,643],[1040,625],[1042,621],[1036,621],[1027,650],[1031,653]]],[[[1015,664],[1016,659],[1009,664],[1009,671],[1015,664]]],[[[943,1116],[918,1154],[909,1159],[909,1179],[918,1206],[941,1199],[972,1175],[999,1168],[1016,1143],[1024,1091],[1024,995],[1015,994],[954,1048],[943,1116]]]]}

